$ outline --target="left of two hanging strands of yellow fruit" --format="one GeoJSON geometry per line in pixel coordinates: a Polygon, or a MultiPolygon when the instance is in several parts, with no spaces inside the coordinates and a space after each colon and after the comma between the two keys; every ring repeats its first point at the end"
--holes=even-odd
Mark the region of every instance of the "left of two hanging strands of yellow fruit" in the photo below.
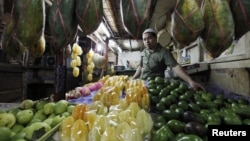
{"type": "Polygon", "coordinates": [[[78,45],[78,43],[74,43],[71,52],[71,68],[73,69],[73,76],[79,76],[79,66],[81,66],[81,57],[82,55],[82,48],[78,45]]]}

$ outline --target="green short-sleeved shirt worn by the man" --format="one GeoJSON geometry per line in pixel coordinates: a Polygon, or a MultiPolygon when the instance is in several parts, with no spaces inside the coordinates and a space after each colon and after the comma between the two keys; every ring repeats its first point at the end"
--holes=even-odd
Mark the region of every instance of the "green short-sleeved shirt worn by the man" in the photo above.
{"type": "Polygon", "coordinates": [[[178,63],[172,53],[157,44],[154,51],[145,48],[141,53],[141,79],[145,80],[148,76],[165,76],[167,67],[174,67],[178,63]]]}

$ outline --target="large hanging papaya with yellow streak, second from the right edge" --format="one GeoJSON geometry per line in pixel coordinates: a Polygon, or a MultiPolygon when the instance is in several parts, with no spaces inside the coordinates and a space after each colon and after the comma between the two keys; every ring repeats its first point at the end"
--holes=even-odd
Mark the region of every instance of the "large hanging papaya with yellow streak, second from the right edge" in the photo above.
{"type": "Polygon", "coordinates": [[[204,0],[201,12],[205,27],[199,43],[212,58],[216,58],[233,42],[233,15],[227,0],[204,0]]]}

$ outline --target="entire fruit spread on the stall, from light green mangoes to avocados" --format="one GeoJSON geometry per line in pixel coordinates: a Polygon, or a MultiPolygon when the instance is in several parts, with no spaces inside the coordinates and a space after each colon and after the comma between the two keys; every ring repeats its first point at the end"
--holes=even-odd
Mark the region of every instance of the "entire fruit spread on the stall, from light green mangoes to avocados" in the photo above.
{"type": "Polygon", "coordinates": [[[179,80],[106,75],[67,100],[24,100],[0,114],[0,140],[207,140],[208,125],[250,125],[249,100],[179,80]],[[87,100],[86,100],[87,99],[87,100]]]}

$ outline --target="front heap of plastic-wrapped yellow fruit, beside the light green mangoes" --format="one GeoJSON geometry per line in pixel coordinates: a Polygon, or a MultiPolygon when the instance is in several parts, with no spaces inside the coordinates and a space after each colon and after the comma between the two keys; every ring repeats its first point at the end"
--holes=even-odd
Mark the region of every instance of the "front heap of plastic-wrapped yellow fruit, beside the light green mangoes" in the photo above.
{"type": "Polygon", "coordinates": [[[128,104],[121,99],[117,105],[107,108],[101,101],[95,101],[76,105],[72,116],[62,121],[59,138],[61,141],[142,141],[152,126],[150,114],[137,103],[128,104]]]}

